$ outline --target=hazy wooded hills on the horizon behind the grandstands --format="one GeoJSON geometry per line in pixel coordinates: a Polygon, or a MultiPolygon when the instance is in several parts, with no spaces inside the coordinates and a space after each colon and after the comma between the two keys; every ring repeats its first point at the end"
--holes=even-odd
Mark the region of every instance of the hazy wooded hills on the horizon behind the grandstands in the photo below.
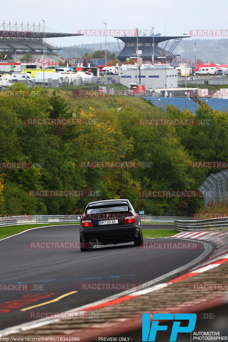
{"type": "MultiPolygon", "coordinates": [[[[195,58],[195,42],[197,44],[197,59],[205,59],[208,62],[214,62],[218,64],[228,64],[228,39],[186,39],[186,56],[187,58],[194,59],[195,58]]],[[[120,49],[122,50],[124,43],[119,41],[120,49]]],[[[166,49],[169,50],[171,42],[169,42],[166,46],[166,49]]],[[[162,46],[162,44],[160,44],[162,46]]],[[[65,58],[81,58],[86,52],[91,53],[96,50],[100,50],[100,43],[92,43],[92,44],[80,44],[69,47],[61,47],[63,49],[62,56],[65,58]]],[[[102,43],[102,50],[105,49],[105,43],[102,43]]],[[[108,42],[107,42],[107,50],[108,50],[108,42]]],[[[110,52],[115,52],[116,56],[119,54],[119,46],[117,42],[109,43],[110,52]]],[[[174,50],[176,54],[180,54],[181,58],[185,58],[185,39],[179,42],[176,49],[174,50]]]]}

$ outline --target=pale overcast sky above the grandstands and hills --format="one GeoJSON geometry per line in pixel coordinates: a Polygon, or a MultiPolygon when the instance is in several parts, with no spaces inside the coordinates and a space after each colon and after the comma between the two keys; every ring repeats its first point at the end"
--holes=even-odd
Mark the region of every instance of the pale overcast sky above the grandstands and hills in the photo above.
{"type": "MultiPolygon", "coordinates": [[[[162,35],[165,35],[166,22],[166,36],[189,34],[193,29],[228,30],[228,3],[221,0],[13,0],[10,5],[7,1],[1,2],[1,13],[0,23],[4,20],[5,23],[40,22],[43,25],[41,19],[44,19],[45,26],[67,33],[77,33],[81,29],[104,29],[103,22],[107,23],[107,29],[151,29],[154,26],[155,34],[160,32],[162,35]]],[[[115,41],[111,37],[107,40],[115,41]]],[[[104,42],[105,37],[49,38],[48,41],[58,46],[69,46],[104,42]]]]}

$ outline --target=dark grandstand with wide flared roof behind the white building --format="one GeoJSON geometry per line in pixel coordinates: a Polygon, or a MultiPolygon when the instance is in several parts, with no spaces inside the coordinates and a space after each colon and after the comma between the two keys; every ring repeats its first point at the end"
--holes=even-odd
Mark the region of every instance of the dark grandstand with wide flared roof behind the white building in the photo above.
{"type": "MultiPolygon", "coordinates": [[[[188,36],[190,37],[190,36],[188,36]]],[[[136,48],[137,48],[137,37],[114,37],[121,39],[125,45],[122,51],[118,56],[118,60],[121,62],[126,61],[127,57],[136,58],[136,48]]],[[[185,38],[185,36],[170,36],[165,37],[161,36],[161,34],[151,35],[151,36],[139,36],[138,37],[138,50],[142,50],[142,55],[139,57],[143,58],[143,60],[151,61],[153,54],[153,42],[154,42],[154,60],[157,62],[164,61],[165,58],[168,60],[172,60],[173,58],[179,58],[180,55],[176,55],[173,53],[177,44],[180,40],[185,38]],[[165,50],[167,44],[170,40],[173,40],[169,50],[165,50]],[[164,44],[164,48],[159,46],[158,44],[164,44]]]]}

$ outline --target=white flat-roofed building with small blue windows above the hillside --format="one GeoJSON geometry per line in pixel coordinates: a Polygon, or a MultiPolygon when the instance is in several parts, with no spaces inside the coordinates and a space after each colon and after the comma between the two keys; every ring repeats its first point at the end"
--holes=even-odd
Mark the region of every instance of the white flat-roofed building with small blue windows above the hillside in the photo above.
{"type": "MultiPolygon", "coordinates": [[[[126,87],[129,87],[129,83],[136,83],[136,72],[136,68],[120,69],[120,83],[126,87]]],[[[177,70],[167,66],[165,68],[164,65],[141,67],[140,83],[145,86],[145,89],[177,88],[177,70]]]]}

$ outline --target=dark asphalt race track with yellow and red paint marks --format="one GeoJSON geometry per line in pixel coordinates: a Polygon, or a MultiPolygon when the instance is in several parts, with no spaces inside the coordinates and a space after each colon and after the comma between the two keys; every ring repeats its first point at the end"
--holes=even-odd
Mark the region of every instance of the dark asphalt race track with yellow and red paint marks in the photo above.
{"type": "MultiPolygon", "coordinates": [[[[193,261],[205,250],[201,244],[198,249],[143,249],[133,242],[88,252],[28,247],[30,242],[79,242],[78,229],[78,225],[43,227],[0,241],[0,285],[36,285],[34,290],[0,291],[0,330],[31,321],[27,317],[30,312],[62,312],[124,291],[83,290],[80,284],[143,284],[193,261]],[[77,292],[69,294],[73,291],[77,292]],[[63,295],[56,302],[46,303],[63,295]],[[46,304],[21,311],[41,303],[46,304]]],[[[144,243],[158,241],[181,240],[144,239],[144,243]]]]}

